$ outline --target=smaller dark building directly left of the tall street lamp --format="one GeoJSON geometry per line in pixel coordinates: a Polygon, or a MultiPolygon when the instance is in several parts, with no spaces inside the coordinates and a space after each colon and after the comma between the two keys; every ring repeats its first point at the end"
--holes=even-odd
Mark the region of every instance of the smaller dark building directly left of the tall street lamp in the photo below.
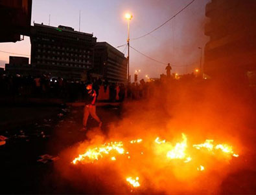
{"type": "Polygon", "coordinates": [[[94,72],[110,82],[127,82],[127,59],[124,54],[106,42],[95,45],[94,72]]]}

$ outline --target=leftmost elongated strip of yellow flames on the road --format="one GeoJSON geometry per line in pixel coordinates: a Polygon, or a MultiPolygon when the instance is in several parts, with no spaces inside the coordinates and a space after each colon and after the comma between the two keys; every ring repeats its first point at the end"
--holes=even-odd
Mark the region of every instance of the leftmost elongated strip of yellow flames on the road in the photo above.
{"type": "Polygon", "coordinates": [[[104,144],[101,147],[95,147],[94,149],[89,149],[84,154],[80,154],[78,158],[73,160],[73,164],[76,164],[76,161],[83,161],[86,158],[91,161],[98,160],[103,158],[103,154],[109,154],[111,150],[115,150],[119,154],[124,154],[124,149],[122,148],[122,141],[115,141],[108,144],[104,144]]]}

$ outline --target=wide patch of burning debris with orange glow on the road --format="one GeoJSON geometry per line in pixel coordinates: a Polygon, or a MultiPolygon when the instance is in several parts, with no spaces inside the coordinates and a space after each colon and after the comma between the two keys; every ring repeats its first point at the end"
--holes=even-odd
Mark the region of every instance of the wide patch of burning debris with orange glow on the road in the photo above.
{"type": "Polygon", "coordinates": [[[157,137],[151,140],[140,138],[111,141],[96,147],[91,145],[71,163],[81,166],[91,163],[95,167],[106,163],[108,166],[119,167],[123,181],[132,188],[138,188],[145,185],[143,181],[148,182],[148,170],[156,173],[166,168],[169,174],[163,174],[161,180],[167,182],[172,169],[180,170],[180,174],[185,174],[185,178],[190,180],[200,177],[198,171],[211,172],[214,165],[209,161],[228,166],[232,158],[239,157],[239,154],[233,152],[231,145],[214,144],[212,139],[206,139],[205,143],[201,144],[191,144],[188,137],[182,134],[182,141],[178,143],[157,137]]]}

